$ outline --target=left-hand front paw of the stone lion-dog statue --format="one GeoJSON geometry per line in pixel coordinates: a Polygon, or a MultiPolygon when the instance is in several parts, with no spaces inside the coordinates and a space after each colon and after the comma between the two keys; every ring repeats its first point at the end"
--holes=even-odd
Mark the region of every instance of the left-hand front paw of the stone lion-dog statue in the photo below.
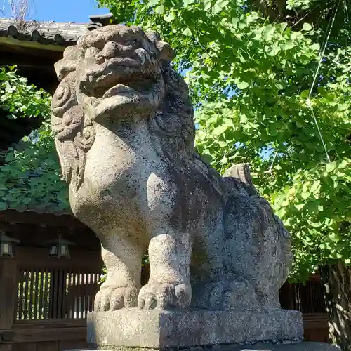
{"type": "Polygon", "coordinates": [[[95,311],[115,311],[124,307],[135,307],[138,289],[135,286],[102,287],[95,296],[95,311]]]}

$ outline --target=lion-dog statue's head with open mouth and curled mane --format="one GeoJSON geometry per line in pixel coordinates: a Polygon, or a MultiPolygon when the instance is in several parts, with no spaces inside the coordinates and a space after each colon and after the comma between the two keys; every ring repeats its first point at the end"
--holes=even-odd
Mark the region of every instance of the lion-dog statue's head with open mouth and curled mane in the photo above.
{"type": "Polygon", "coordinates": [[[55,64],[60,85],[52,100],[52,126],[67,183],[83,181],[95,139],[93,121],[150,118],[150,131],[192,149],[193,110],[185,81],[171,68],[171,47],[155,32],[110,25],[80,37],[55,64]],[[171,138],[171,140],[169,139],[171,138]]]}

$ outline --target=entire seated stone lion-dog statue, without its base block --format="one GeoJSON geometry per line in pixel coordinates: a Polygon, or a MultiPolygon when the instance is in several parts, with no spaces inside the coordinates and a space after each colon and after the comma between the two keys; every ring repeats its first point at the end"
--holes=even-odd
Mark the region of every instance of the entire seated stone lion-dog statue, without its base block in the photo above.
{"type": "Polygon", "coordinates": [[[95,310],[276,309],[289,233],[246,165],[221,177],[194,148],[187,86],[154,32],[110,25],[55,69],[52,126],[72,211],[98,235],[95,310]],[[140,286],[142,256],[150,280],[140,286]]]}

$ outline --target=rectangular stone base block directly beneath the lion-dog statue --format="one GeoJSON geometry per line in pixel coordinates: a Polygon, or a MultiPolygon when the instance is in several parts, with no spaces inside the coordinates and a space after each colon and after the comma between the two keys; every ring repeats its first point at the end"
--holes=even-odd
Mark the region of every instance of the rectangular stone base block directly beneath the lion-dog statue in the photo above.
{"type": "Polygon", "coordinates": [[[300,312],[164,311],[124,309],[92,312],[87,318],[88,345],[100,349],[169,349],[211,345],[292,342],[303,339],[300,312]]]}

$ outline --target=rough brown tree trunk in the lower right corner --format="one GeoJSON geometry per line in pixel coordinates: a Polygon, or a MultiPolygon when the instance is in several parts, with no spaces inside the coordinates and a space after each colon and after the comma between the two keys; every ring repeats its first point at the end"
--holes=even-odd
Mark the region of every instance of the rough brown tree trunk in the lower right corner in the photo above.
{"type": "Polygon", "coordinates": [[[322,280],[331,343],[351,351],[351,267],[343,263],[325,266],[322,280]]]}

